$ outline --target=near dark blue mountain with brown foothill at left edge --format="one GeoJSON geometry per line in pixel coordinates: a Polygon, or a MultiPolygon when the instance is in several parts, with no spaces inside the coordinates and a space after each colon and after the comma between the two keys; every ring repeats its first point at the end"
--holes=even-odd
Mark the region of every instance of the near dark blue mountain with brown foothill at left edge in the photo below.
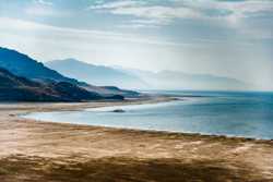
{"type": "Polygon", "coordinates": [[[136,92],[112,86],[98,87],[63,76],[28,56],[7,48],[0,48],[0,69],[1,80],[4,81],[0,83],[0,100],[3,98],[32,100],[37,96],[36,101],[82,101],[140,96],[136,92]]]}

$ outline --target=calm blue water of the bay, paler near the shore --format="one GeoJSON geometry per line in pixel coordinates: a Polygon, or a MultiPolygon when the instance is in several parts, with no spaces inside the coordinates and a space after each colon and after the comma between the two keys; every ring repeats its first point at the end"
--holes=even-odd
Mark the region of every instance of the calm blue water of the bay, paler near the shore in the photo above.
{"type": "Polygon", "coordinates": [[[273,93],[156,93],[187,97],[185,100],[156,105],[39,112],[26,118],[114,128],[273,138],[273,93]],[[110,112],[117,108],[126,112],[110,112]]]}

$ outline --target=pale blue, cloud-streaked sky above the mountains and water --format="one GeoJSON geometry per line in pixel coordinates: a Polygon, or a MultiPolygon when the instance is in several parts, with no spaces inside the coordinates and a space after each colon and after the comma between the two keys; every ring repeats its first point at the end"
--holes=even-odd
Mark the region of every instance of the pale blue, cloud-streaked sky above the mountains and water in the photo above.
{"type": "Polygon", "coordinates": [[[0,46],[273,90],[273,0],[0,0],[0,46]]]}

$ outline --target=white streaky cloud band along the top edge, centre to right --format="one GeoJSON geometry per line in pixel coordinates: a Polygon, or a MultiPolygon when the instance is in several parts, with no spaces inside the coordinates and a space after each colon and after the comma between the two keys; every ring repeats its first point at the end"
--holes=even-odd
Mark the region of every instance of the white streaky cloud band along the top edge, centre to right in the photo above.
{"type": "MultiPolygon", "coordinates": [[[[168,5],[147,1],[118,0],[88,7],[92,11],[105,11],[117,15],[132,15],[153,20],[151,23],[167,25],[176,19],[223,20],[238,23],[241,19],[273,11],[272,0],[218,1],[218,0],[169,0],[168,5]],[[210,12],[217,12],[211,13],[210,12]]],[[[143,26],[147,25],[143,23],[143,26]]]]}

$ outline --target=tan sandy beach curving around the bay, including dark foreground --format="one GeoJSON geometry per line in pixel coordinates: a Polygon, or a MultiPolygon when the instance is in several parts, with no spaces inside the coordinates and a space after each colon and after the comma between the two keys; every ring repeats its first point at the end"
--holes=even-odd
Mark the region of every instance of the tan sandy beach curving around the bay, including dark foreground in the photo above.
{"type": "Polygon", "coordinates": [[[273,181],[273,141],[61,124],[17,117],[34,111],[167,100],[1,104],[0,181],[273,181]]]}

